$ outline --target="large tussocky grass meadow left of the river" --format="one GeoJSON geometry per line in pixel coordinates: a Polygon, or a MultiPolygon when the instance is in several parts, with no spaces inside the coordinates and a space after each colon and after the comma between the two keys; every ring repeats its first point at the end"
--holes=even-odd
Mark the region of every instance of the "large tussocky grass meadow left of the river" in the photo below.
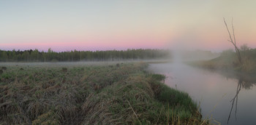
{"type": "Polygon", "coordinates": [[[1,124],[208,124],[187,93],[146,73],[146,63],[7,65],[1,124]]]}

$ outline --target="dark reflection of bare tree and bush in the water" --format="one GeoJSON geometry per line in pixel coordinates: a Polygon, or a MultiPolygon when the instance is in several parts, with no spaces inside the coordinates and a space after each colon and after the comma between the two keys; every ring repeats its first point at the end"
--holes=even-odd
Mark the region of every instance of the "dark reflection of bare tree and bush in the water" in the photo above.
{"type": "MultiPolygon", "coordinates": [[[[232,105],[230,108],[229,116],[227,118],[227,124],[228,124],[228,121],[230,121],[230,116],[231,116],[234,105],[236,107],[235,108],[235,117],[236,117],[237,105],[238,105],[238,94],[241,91],[241,88],[242,89],[252,89],[252,86],[256,85],[256,78],[254,76],[245,75],[245,74],[236,74],[236,78],[238,78],[238,86],[236,87],[235,97],[233,97],[233,99],[230,100],[232,105]]],[[[237,117],[236,117],[236,119],[237,119],[237,117]]]]}

